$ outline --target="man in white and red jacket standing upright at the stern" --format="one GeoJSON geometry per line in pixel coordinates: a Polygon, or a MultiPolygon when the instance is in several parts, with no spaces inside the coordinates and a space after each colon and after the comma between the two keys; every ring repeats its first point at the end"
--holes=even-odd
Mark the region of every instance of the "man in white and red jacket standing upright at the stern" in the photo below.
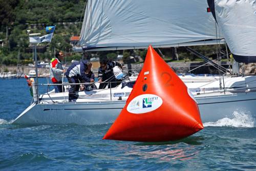
{"type": "MultiPolygon", "coordinates": [[[[61,51],[57,51],[55,53],[55,58],[52,58],[51,60],[50,77],[54,84],[62,83],[62,73],[66,72],[61,65],[61,60],[63,60],[63,57],[63,53],[61,51]]],[[[54,86],[54,90],[55,93],[65,91],[64,87],[61,85],[54,86]]]]}

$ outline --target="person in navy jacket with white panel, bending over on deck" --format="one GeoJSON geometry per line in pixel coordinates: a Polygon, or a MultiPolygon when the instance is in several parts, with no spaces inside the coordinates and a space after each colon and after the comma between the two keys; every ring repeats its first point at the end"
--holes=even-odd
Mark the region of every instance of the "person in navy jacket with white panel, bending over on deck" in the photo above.
{"type": "MultiPolygon", "coordinates": [[[[90,62],[87,60],[72,63],[66,72],[69,83],[91,82],[91,78],[86,74],[89,64],[90,62]]],[[[79,84],[71,85],[69,89],[69,101],[77,100],[79,87],[79,84]]]]}

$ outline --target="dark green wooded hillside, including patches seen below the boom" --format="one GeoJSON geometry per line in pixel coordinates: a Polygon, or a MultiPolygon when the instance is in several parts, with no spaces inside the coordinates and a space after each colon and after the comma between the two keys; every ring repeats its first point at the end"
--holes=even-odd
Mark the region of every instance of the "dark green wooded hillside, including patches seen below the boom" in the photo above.
{"type": "MultiPolygon", "coordinates": [[[[65,51],[67,61],[80,59],[81,54],[74,54],[70,45],[71,36],[79,36],[83,10],[86,1],[82,0],[0,0],[0,65],[26,65],[32,63],[32,50],[29,48],[29,38],[27,30],[31,33],[41,33],[45,35],[46,26],[56,25],[51,44],[41,44],[38,50],[38,60],[49,61],[53,57],[54,49],[65,51]],[[20,55],[18,55],[20,54],[20,55]]],[[[202,54],[209,57],[216,57],[216,46],[194,47],[202,54]]],[[[222,47],[225,51],[225,46],[222,47]]],[[[190,54],[185,48],[177,49],[180,60],[190,61],[197,57],[190,54]]],[[[176,60],[174,49],[161,49],[162,54],[168,61],[176,60]],[[170,60],[169,60],[170,59],[170,60]]],[[[126,50],[89,53],[89,57],[108,57],[114,60],[117,54],[123,54],[124,61],[129,62],[129,56],[139,55],[145,57],[145,50],[126,50]]]]}

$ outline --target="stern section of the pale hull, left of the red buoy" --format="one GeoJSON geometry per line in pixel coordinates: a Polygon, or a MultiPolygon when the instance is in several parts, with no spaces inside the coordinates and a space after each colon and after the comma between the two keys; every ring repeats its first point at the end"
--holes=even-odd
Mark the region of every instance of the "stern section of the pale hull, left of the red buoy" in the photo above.
{"type": "Polygon", "coordinates": [[[125,101],[102,103],[32,104],[14,120],[15,124],[69,124],[94,125],[112,123],[125,101]]]}

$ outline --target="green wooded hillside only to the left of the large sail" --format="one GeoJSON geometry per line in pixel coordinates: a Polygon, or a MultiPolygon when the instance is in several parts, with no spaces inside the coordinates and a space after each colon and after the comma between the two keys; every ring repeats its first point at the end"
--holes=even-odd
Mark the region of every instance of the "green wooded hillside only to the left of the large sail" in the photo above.
{"type": "Polygon", "coordinates": [[[18,51],[20,63],[31,63],[27,30],[44,35],[45,27],[51,25],[56,25],[54,37],[51,44],[42,45],[48,46],[46,52],[38,53],[39,60],[50,59],[54,48],[71,52],[69,39],[80,33],[78,27],[81,16],[83,18],[84,1],[0,0],[0,4],[0,39],[4,44],[0,47],[0,63],[16,65],[18,51]]]}

